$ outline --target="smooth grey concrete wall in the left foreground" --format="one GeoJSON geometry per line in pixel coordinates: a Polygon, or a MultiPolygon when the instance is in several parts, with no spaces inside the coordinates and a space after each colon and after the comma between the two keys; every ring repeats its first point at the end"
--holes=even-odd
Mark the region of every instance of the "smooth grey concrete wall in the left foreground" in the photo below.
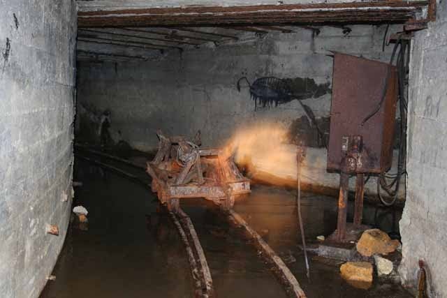
{"type": "Polygon", "coordinates": [[[76,24],[74,0],[0,1],[1,297],[38,297],[64,243],[76,24]]]}

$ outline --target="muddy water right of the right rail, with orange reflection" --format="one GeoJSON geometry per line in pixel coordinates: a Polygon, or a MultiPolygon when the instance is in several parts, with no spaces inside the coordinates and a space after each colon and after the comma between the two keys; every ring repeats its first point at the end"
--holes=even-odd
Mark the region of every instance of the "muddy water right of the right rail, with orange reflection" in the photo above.
{"type": "MultiPolygon", "coordinates": [[[[254,186],[251,195],[235,204],[252,228],[264,231],[264,239],[272,246],[300,282],[308,297],[412,297],[401,285],[390,280],[378,280],[369,290],[353,288],[339,276],[341,262],[312,259],[310,281],[306,277],[304,255],[300,248],[295,190],[254,186]],[[296,260],[294,262],[294,260],[296,260]]],[[[302,217],[308,243],[316,242],[316,236],[331,234],[337,224],[337,200],[312,193],[302,194],[302,217]]],[[[348,221],[353,218],[352,202],[349,202],[348,221]]],[[[363,223],[380,228],[393,237],[399,237],[400,209],[378,208],[365,204],[363,223]]]]}

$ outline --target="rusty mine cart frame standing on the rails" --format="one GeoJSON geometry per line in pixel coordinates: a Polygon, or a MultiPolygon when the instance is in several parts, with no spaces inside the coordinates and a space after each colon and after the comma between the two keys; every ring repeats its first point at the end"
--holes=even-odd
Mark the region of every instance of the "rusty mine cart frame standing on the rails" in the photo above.
{"type": "Polygon", "coordinates": [[[157,131],[159,149],[146,172],[152,191],[169,210],[177,211],[180,198],[205,198],[223,209],[235,197],[250,193],[250,181],[237,169],[228,149],[200,148],[200,131],[194,140],[166,137],[157,131]]]}

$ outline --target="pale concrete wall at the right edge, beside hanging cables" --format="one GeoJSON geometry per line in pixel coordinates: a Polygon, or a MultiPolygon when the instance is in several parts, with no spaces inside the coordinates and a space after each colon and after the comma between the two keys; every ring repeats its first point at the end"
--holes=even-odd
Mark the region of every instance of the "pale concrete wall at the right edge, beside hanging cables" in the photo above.
{"type": "Polygon", "coordinates": [[[411,54],[408,195],[400,229],[404,284],[416,285],[418,260],[430,270],[432,297],[447,297],[447,3],[416,33],[411,54]]]}

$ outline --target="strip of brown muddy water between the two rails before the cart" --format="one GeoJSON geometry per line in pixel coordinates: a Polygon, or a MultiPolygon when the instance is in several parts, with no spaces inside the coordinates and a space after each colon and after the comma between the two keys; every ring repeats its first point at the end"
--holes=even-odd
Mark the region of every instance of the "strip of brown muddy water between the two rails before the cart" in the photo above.
{"type": "Polygon", "coordinates": [[[218,297],[287,297],[254,246],[212,203],[189,199],[182,209],[194,223],[218,297]]]}

